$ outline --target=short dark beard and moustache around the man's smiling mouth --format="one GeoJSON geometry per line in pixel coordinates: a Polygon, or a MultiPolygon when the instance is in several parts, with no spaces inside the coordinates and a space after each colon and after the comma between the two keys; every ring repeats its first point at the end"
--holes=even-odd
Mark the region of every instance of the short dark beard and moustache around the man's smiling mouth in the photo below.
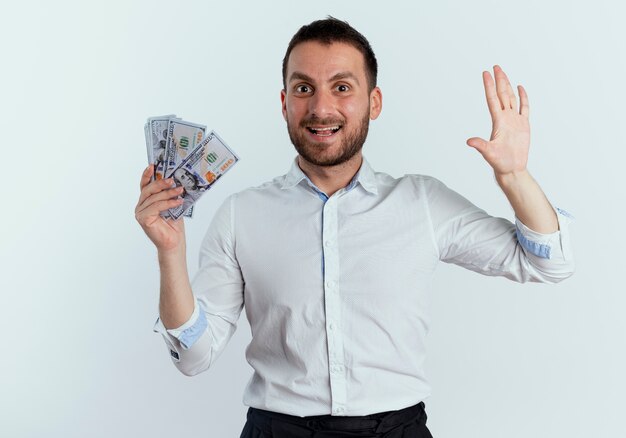
{"type": "Polygon", "coordinates": [[[287,131],[289,132],[289,138],[296,148],[296,151],[306,161],[322,167],[337,166],[350,160],[361,151],[365,139],[367,138],[369,119],[370,115],[368,111],[351,132],[343,132],[343,139],[339,144],[339,148],[337,152],[332,155],[325,154],[325,149],[335,147],[335,145],[330,146],[323,142],[313,142],[309,140],[306,136],[306,127],[311,125],[340,125],[341,129],[334,134],[338,135],[339,132],[346,129],[345,120],[331,118],[320,119],[317,116],[313,116],[303,119],[298,126],[293,126],[289,123],[289,119],[287,119],[287,131]]]}

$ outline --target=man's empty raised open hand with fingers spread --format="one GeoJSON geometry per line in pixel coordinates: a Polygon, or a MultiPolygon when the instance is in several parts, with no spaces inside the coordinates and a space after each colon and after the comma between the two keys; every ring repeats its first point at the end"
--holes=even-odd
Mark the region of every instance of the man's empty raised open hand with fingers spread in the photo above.
{"type": "Polygon", "coordinates": [[[467,144],[480,152],[496,176],[501,177],[526,171],[530,146],[529,106],[524,87],[517,86],[520,97],[518,109],[515,93],[504,71],[495,65],[493,72],[495,85],[491,74],[483,72],[492,121],[491,137],[489,141],[472,137],[467,140],[467,144]]]}

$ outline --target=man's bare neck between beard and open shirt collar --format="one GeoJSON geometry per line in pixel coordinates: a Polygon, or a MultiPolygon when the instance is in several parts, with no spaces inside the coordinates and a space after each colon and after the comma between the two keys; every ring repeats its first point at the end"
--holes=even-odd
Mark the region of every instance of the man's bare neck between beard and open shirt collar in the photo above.
{"type": "Polygon", "coordinates": [[[298,156],[298,166],[315,186],[332,196],[337,190],[347,186],[359,171],[363,155],[359,152],[345,163],[336,166],[318,166],[298,156]]]}

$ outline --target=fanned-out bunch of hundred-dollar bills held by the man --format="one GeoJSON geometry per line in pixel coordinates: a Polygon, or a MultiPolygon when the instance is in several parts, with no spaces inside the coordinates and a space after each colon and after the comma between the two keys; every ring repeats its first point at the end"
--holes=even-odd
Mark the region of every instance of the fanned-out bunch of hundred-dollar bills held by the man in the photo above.
{"type": "Polygon", "coordinates": [[[172,178],[184,188],[183,203],[161,212],[166,219],[192,217],[193,204],[239,161],[215,131],[205,135],[206,126],[174,114],[148,118],[144,132],[153,179],[172,178]]]}

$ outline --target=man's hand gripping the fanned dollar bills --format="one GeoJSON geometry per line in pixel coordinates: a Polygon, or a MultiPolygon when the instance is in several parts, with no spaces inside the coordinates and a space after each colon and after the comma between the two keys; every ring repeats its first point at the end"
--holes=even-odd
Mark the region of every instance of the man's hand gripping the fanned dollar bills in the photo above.
{"type": "Polygon", "coordinates": [[[184,248],[185,225],[182,218],[165,220],[160,213],[183,203],[177,199],[182,187],[172,188],[171,178],[151,181],[154,165],[150,165],[141,175],[141,194],[135,207],[135,218],[159,252],[171,252],[184,248]]]}

